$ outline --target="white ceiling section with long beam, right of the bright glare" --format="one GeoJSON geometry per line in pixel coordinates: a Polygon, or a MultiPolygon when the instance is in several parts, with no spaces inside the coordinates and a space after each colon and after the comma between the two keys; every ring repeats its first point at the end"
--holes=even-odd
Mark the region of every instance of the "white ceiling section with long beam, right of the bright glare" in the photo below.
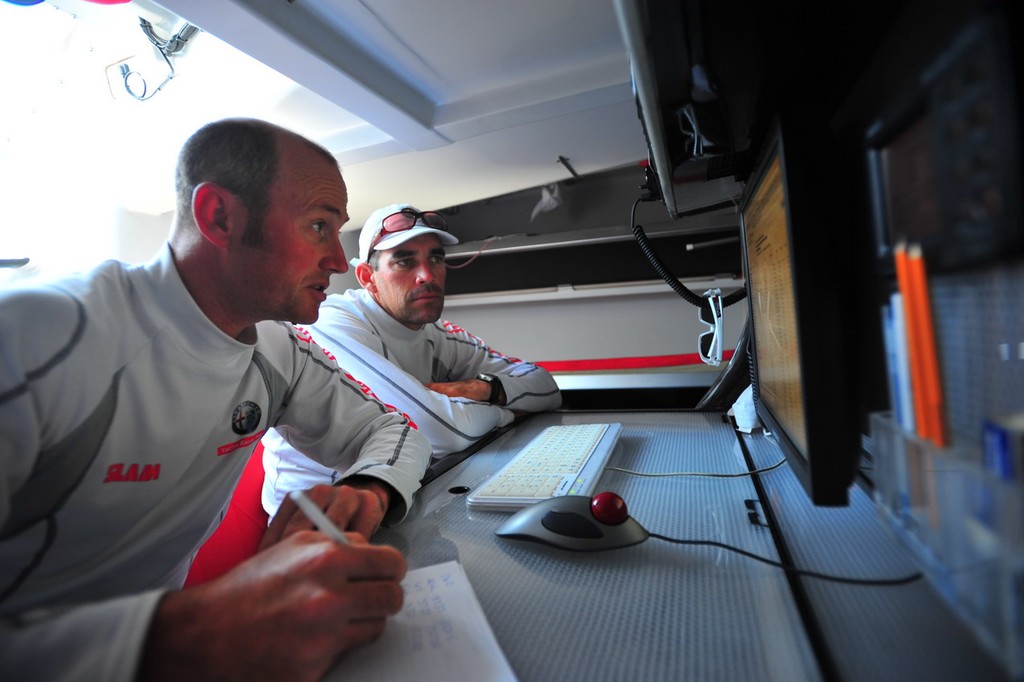
{"type": "Polygon", "coordinates": [[[164,0],[365,126],[324,134],[353,223],[646,158],[610,0],[164,0]]]}

